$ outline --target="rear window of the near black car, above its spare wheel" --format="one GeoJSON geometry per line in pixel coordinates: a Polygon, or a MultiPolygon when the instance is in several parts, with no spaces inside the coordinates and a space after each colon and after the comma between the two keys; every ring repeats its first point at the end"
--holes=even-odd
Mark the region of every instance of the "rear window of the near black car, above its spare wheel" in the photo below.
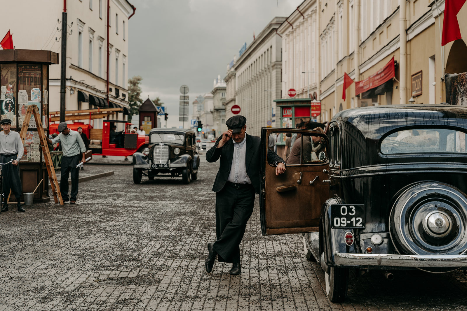
{"type": "Polygon", "coordinates": [[[467,153],[466,133],[453,129],[410,129],[397,131],[382,139],[381,152],[467,153]]]}

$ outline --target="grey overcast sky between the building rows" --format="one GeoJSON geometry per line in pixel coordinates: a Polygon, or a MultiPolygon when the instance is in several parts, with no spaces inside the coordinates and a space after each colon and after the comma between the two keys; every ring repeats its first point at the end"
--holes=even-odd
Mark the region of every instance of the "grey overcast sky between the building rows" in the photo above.
{"type": "MultiPolygon", "coordinates": [[[[160,97],[178,121],[180,85],[191,102],[212,90],[241,46],[275,16],[289,16],[303,0],[129,0],[128,76],[142,76],[142,99],[160,97]]],[[[186,124],[185,124],[186,127],[186,124]]]]}

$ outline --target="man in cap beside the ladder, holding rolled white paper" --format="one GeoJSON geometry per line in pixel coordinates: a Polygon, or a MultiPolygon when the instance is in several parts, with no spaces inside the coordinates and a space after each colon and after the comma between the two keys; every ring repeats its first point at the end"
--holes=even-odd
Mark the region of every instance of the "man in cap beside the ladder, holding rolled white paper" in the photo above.
{"type": "Polygon", "coordinates": [[[79,168],[76,166],[79,162],[86,162],[86,146],[77,131],[68,128],[66,122],[58,124],[60,134],[54,139],[47,138],[49,144],[60,143],[63,156],[60,166],[60,193],[64,202],[70,200],[71,204],[76,203],[78,195],[79,168]],[[68,176],[71,173],[71,194],[68,197],[68,176]]]}

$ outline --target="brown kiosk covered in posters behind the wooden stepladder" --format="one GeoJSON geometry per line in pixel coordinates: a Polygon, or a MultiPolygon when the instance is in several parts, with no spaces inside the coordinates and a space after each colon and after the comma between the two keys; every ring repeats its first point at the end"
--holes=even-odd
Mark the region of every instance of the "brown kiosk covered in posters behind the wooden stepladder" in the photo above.
{"type": "MultiPolygon", "coordinates": [[[[39,108],[45,134],[49,129],[49,65],[58,64],[58,54],[52,51],[0,50],[0,114],[12,120],[11,130],[21,131],[28,105],[39,108]]],[[[50,201],[49,177],[40,151],[40,140],[34,117],[29,121],[20,161],[22,193],[34,191],[34,202],[50,201]]],[[[8,195],[8,194],[5,194],[8,195]]],[[[14,201],[14,196],[10,201],[14,201]]],[[[23,198],[21,197],[21,200],[23,198]]]]}

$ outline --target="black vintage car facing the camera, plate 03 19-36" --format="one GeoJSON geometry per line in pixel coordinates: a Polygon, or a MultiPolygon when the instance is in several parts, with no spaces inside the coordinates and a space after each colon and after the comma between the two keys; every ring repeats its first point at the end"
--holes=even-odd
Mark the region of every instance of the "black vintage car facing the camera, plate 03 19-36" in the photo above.
{"type": "Polygon", "coordinates": [[[133,154],[133,181],[142,176],[150,180],[158,174],[182,176],[183,183],[198,178],[199,156],[196,152],[195,132],[191,129],[159,129],[149,132],[149,146],[133,154]]]}

